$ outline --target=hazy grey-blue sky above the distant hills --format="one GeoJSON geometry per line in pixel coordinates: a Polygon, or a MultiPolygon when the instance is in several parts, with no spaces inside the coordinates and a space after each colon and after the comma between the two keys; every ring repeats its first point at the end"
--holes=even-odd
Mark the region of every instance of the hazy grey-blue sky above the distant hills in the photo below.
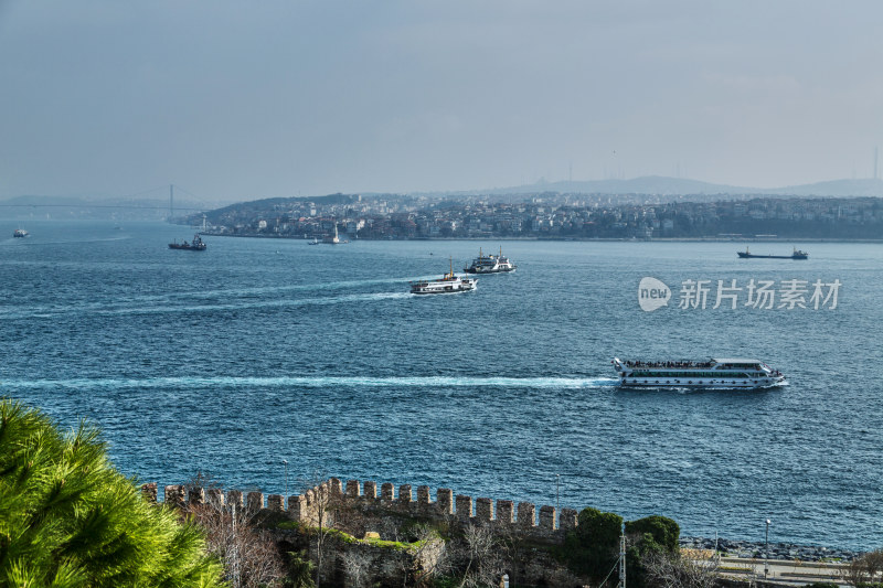
{"type": "Polygon", "coordinates": [[[881,23],[879,0],[0,0],[0,197],[868,178],[881,23]]]}

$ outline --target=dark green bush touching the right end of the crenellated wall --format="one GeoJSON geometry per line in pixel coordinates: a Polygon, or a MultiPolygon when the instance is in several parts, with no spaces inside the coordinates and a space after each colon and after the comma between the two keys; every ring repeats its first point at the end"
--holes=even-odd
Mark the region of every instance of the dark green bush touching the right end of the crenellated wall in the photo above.
{"type": "Polygon", "coordinates": [[[578,525],[564,539],[567,566],[593,580],[603,580],[619,558],[623,517],[597,509],[583,509],[578,525]]]}

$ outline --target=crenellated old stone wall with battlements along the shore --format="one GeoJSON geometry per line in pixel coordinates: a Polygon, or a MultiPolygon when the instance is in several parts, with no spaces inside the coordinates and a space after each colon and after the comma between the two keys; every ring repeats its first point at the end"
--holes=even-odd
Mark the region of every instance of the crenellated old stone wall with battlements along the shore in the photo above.
{"type": "MultiPolygon", "coordinates": [[[[157,484],[141,487],[141,492],[149,501],[157,501],[157,484]]],[[[185,487],[167,485],[164,500],[167,504],[184,506],[185,487]]],[[[219,489],[203,490],[191,488],[187,492],[188,504],[211,504],[247,509],[248,512],[269,510],[286,512],[288,516],[308,525],[318,525],[321,514],[323,525],[340,524],[358,527],[359,532],[371,531],[372,521],[389,515],[407,515],[435,521],[459,521],[464,524],[489,525],[530,535],[545,541],[561,542],[567,531],[576,527],[577,512],[574,509],[562,509],[560,513],[554,506],[541,505],[539,521],[536,505],[530,502],[515,504],[511,500],[493,501],[490,498],[478,498],[454,494],[450,489],[436,490],[435,501],[428,485],[416,489],[416,500],[411,484],[396,488],[392,483],[383,483],[377,494],[377,483],[347,480],[344,484],[338,478],[311,488],[304,494],[286,499],[281,494],[265,496],[262,492],[231,490],[226,494],[219,489]],[[353,516],[358,513],[360,516],[353,516]],[[359,521],[358,523],[355,521],[359,521]]]]}

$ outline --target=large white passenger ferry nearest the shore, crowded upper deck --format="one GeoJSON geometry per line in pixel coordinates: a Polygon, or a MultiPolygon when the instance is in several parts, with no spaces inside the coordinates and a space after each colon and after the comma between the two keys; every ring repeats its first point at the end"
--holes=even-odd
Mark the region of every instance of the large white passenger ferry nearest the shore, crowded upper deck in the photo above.
{"type": "Polygon", "coordinates": [[[787,384],[778,370],[758,360],[636,361],[614,357],[619,385],[627,387],[769,388],[787,384]]]}

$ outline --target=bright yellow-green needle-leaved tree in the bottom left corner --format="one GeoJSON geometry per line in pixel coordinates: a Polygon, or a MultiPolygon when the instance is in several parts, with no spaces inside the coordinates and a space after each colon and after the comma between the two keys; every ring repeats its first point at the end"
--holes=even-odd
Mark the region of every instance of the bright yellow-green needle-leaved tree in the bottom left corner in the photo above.
{"type": "Polygon", "coordinates": [[[0,399],[0,586],[211,587],[200,531],[143,501],[98,431],[0,399]]]}

